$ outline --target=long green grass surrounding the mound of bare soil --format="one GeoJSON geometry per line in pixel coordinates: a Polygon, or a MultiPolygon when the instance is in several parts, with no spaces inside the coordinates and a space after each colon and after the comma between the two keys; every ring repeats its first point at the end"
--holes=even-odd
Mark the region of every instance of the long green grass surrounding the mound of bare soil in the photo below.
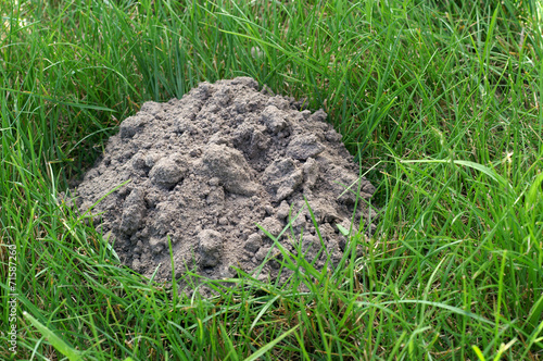
{"type": "Polygon", "coordinates": [[[543,359],[538,7],[0,2],[0,359],[543,359]],[[59,192],[143,101],[239,75],[328,112],[378,227],[336,272],[189,298],[121,266],[59,192]]]}

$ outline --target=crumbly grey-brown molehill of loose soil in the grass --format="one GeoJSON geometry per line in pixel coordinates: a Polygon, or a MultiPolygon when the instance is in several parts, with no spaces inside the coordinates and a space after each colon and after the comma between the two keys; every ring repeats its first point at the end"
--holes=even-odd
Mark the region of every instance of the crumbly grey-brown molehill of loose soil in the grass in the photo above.
{"type": "Polygon", "coordinates": [[[230,277],[231,266],[251,273],[274,258],[261,275],[273,278],[280,257],[257,224],[273,236],[289,225],[279,241],[291,252],[301,245],[317,267],[342,257],[338,224],[349,229],[354,220],[354,228],[363,222],[372,232],[376,214],[363,200],[375,188],[326,113],[268,94],[249,77],[202,83],[179,100],[146,102],[121,124],[76,194],[81,211],[105,196],[92,209],[94,225],[124,263],[172,279],[171,241],[176,277],[188,270],[230,277]]]}

